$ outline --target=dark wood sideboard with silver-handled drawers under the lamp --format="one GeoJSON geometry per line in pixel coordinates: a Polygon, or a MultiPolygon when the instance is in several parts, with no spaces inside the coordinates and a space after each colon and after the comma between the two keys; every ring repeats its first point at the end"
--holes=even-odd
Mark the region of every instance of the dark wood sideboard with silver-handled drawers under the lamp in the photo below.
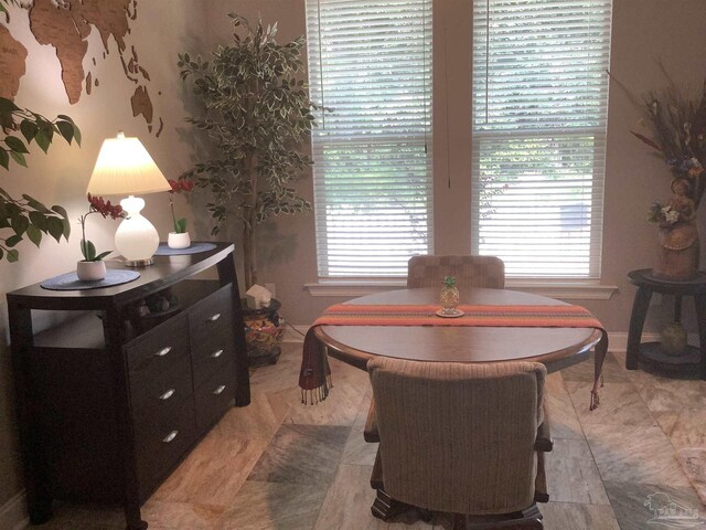
{"type": "Polygon", "coordinates": [[[141,505],[233,403],[249,403],[234,246],[215,245],[156,256],[124,285],[7,295],[32,523],[64,499],[121,505],[129,530],[147,528],[141,505]],[[217,279],[194,277],[212,267],[217,279]],[[172,307],[136,315],[160,293],[172,307]],[[35,332],[40,310],[64,321],[35,332]]]}

